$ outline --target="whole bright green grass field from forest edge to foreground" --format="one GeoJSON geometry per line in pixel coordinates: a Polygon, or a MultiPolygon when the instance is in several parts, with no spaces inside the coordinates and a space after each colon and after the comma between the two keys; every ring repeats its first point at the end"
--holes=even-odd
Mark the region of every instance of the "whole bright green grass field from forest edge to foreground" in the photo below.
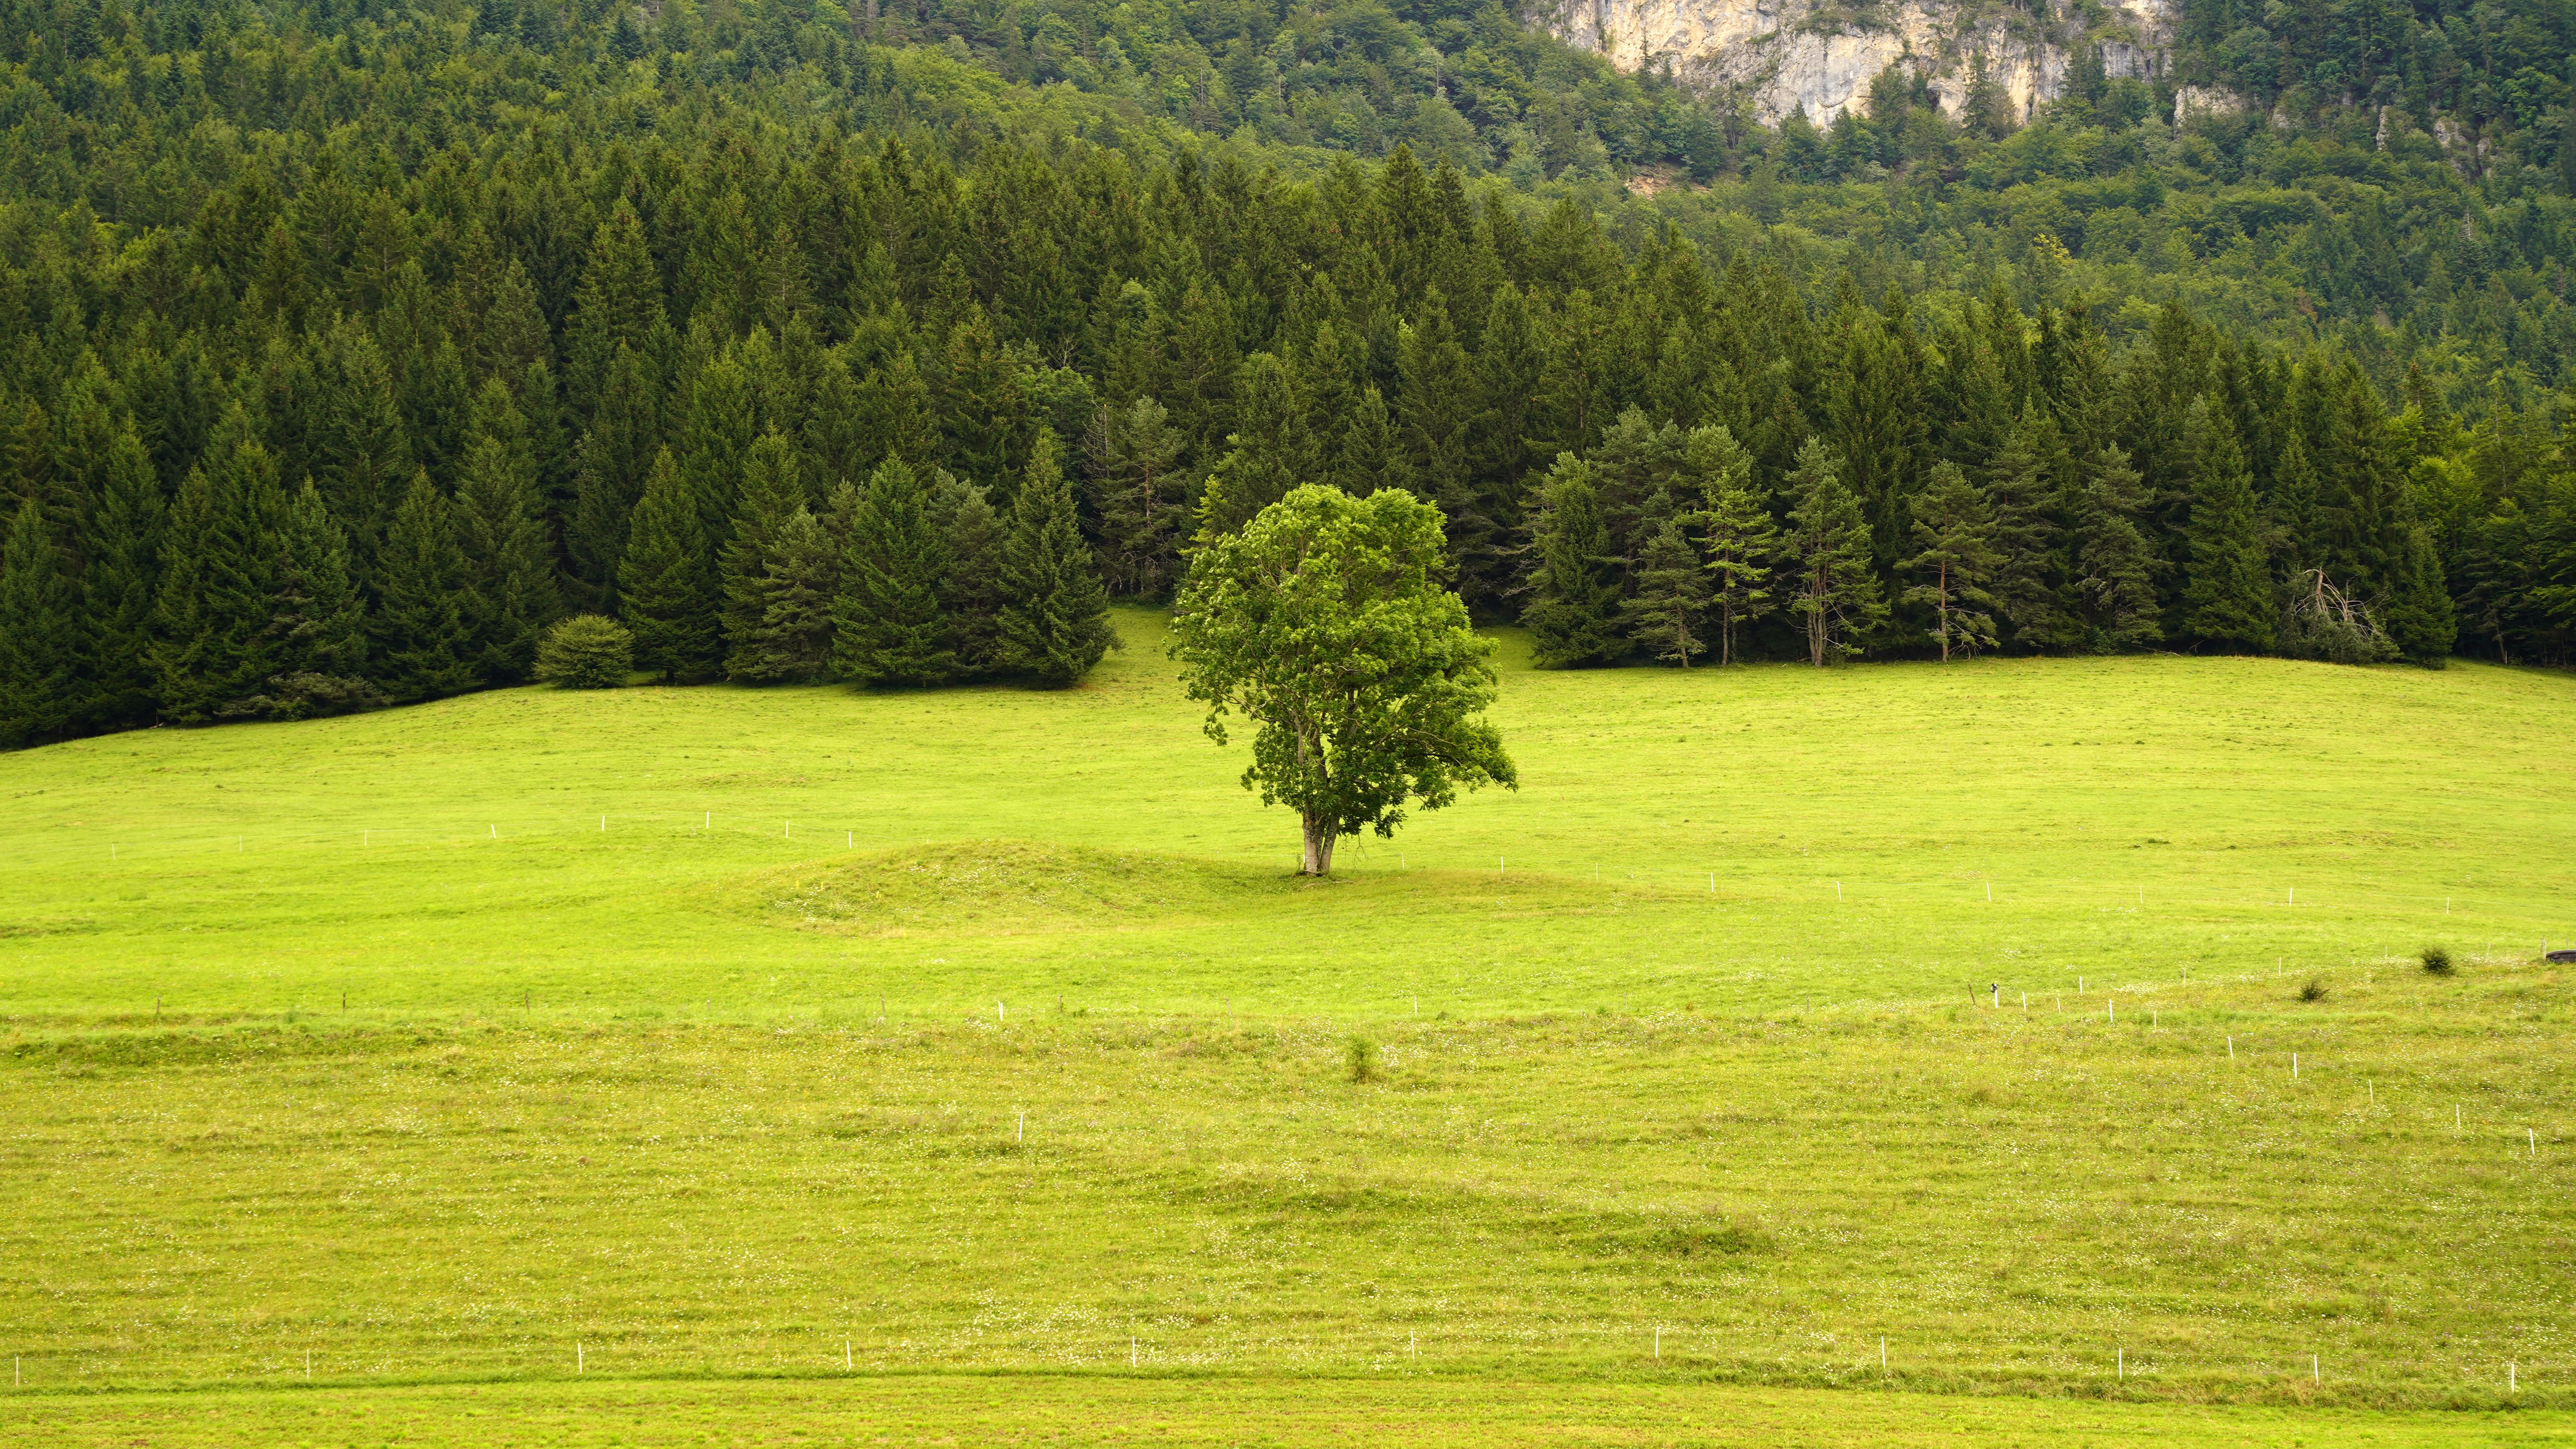
{"type": "Polygon", "coordinates": [[[1121,631],[0,757],[0,1431],[2576,1439],[2576,679],[1515,661],[1301,883],[1121,631]]]}

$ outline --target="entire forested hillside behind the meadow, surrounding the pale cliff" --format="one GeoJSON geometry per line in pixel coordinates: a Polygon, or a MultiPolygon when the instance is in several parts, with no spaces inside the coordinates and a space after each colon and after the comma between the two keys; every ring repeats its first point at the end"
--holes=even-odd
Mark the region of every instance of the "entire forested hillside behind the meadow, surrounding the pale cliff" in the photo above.
{"type": "Polygon", "coordinates": [[[2576,654],[2563,0],[1824,129],[1443,0],[0,15],[0,744],[1069,685],[1306,481],[1543,664],[2576,654]]]}

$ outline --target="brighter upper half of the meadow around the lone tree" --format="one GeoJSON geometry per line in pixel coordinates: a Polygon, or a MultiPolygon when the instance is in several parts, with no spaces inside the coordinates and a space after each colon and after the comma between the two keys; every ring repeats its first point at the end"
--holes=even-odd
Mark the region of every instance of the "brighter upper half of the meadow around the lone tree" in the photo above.
{"type": "Polygon", "coordinates": [[[2576,939],[2566,677],[1507,641],[1522,790],[1316,885],[1118,623],[1069,695],[507,690],[5,757],[0,1011],[1759,1011],[2576,939]]]}

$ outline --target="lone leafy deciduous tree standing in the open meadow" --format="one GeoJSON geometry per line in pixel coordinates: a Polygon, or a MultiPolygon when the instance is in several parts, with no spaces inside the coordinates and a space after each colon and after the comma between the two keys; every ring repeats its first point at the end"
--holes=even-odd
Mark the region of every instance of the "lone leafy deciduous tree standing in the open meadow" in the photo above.
{"type": "Polygon", "coordinates": [[[1443,556],[1440,510],[1404,489],[1301,486],[1190,564],[1172,659],[1208,739],[1226,715],[1260,726],[1244,788],[1298,811],[1303,875],[1332,872],[1342,836],[1396,834],[1409,800],[1520,785],[1481,718],[1494,643],[1440,587],[1443,556]]]}

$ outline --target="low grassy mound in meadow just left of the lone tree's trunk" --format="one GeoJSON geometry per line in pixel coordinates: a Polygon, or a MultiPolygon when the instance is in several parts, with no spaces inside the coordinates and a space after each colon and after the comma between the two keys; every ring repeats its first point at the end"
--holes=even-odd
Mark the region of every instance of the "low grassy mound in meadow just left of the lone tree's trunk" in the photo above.
{"type": "Polygon", "coordinates": [[[907,847],[848,865],[765,870],[734,901],[762,919],[855,937],[1020,934],[1175,924],[1257,893],[1249,870],[1020,842],[907,847]]]}

